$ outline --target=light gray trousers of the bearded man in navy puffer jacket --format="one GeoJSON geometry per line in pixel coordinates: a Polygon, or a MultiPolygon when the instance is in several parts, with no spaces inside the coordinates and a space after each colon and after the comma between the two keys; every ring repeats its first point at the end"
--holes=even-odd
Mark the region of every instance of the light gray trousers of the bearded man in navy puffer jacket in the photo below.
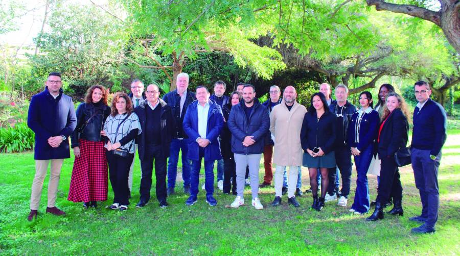
{"type": "MultiPolygon", "coordinates": [[[[262,154],[240,155],[235,154],[235,164],[237,173],[237,194],[243,197],[244,176],[246,176],[246,166],[249,168],[251,178],[252,199],[259,194],[259,164],[262,154]]],[[[295,185],[294,185],[295,188],[295,185]]]]}

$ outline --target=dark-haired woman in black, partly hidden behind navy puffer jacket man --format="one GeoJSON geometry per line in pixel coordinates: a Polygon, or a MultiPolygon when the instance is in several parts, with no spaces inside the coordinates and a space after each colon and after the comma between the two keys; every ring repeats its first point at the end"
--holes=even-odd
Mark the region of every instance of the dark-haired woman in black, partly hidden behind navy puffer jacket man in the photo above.
{"type": "Polygon", "coordinates": [[[220,150],[224,161],[224,181],[223,181],[223,193],[230,194],[230,189],[234,195],[236,192],[236,165],[235,158],[232,152],[232,133],[228,130],[227,120],[232,110],[232,106],[237,105],[241,100],[241,94],[237,91],[230,95],[230,102],[222,107],[222,113],[224,116],[224,126],[220,133],[220,150]],[[232,181],[231,181],[232,180],[232,181]]]}

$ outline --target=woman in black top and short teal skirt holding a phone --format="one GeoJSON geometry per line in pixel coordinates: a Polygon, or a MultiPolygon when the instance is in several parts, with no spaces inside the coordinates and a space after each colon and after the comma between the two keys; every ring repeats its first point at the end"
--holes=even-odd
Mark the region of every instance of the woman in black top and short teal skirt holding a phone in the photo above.
{"type": "Polygon", "coordinates": [[[305,113],[301,130],[304,149],[303,166],[308,167],[310,186],[313,194],[312,209],[321,211],[327,192],[328,168],[335,168],[334,141],[336,137],[335,115],[329,111],[323,93],[313,94],[310,109],[305,113]],[[318,199],[317,169],[321,172],[321,197],[318,199]]]}

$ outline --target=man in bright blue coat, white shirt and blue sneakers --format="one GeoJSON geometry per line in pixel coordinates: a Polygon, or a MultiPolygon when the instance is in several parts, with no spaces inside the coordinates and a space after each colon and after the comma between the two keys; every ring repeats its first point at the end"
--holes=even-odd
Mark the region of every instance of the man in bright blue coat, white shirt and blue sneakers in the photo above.
{"type": "Polygon", "coordinates": [[[204,175],[206,202],[216,206],[214,193],[214,161],[222,159],[220,152],[219,134],[223,128],[222,109],[209,99],[208,88],[198,86],[196,99],[193,101],[183,118],[183,131],[189,136],[187,158],[192,161],[190,173],[190,197],[186,204],[193,206],[197,201],[201,159],[204,158],[204,175]]]}

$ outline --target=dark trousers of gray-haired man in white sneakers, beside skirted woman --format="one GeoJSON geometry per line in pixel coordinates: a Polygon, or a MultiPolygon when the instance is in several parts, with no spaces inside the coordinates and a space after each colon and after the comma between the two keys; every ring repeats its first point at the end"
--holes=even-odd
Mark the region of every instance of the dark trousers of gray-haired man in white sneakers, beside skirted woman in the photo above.
{"type": "MultiPolygon", "coordinates": [[[[335,147],[335,162],[340,171],[340,177],[342,178],[342,189],[340,190],[341,195],[348,198],[350,194],[350,183],[351,183],[351,172],[352,172],[352,162],[351,162],[351,151],[350,147],[342,146],[335,147]]],[[[335,188],[335,178],[336,178],[336,168],[329,169],[329,187],[328,193],[333,195],[336,191],[335,188]]]]}

